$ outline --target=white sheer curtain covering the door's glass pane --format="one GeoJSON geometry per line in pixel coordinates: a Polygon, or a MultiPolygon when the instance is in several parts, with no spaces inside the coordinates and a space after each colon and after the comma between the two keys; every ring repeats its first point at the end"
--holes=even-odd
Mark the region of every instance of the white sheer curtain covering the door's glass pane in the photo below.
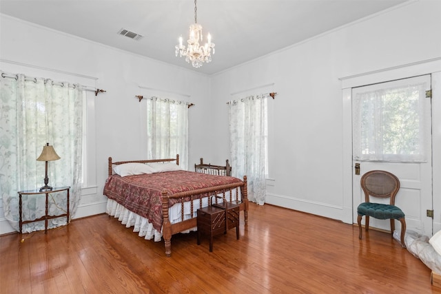
{"type": "Polygon", "coordinates": [[[353,158],[424,162],[430,145],[424,76],[353,89],[353,158]]]}

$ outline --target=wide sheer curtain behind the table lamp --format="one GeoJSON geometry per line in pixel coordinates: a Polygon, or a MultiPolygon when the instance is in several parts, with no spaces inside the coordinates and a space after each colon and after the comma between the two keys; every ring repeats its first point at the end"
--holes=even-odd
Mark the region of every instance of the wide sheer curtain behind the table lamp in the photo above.
{"type": "MultiPolygon", "coordinates": [[[[49,185],[70,186],[70,213],[80,198],[83,138],[81,85],[58,83],[23,74],[0,77],[0,196],[5,218],[19,231],[17,191],[44,185],[45,163],[37,161],[43,145],[53,145],[60,160],[48,162],[49,185]],[[15,76],[15,77],[10,77],[15,76]]],[[[51,194],[49,215],[64,213],[64,194],[51,194]]],[[[23,196],[23,220],[45,214],[45,196],[23,196]]],[[[48,227],[66,224],[65,218],[49,220],[48,227]]],[[[44,229],[44,221],[23,224],[23,232],[44,229]]]]}

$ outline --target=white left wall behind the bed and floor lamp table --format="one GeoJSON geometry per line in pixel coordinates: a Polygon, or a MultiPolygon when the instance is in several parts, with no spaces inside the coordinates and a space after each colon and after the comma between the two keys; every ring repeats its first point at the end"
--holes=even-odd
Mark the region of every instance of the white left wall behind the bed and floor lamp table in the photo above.
{"type": "MultiPolygon", "coordinates": [[[[0,28],[0,70],[30,76],[63,75],[72,82],[84,80],[76,74],[90,76],[97,78],[92,86],[107,91],[96,97],[92,95],[94,101],[89,108],[94,112],[96,127],[96,170],[92,171],[96,174],[96,183],[90,183],[91,187],[83,191],[86,195],[81,198],[75,218],[105,212],[107,198],[102,192],[109,156],[114,160],[145,158],[145,145],[142,144],[145,142],[142,132],[145,129],[145,120],[142,119],[145,100],[140,103],[134,96],[148,94],[149,90],[142,90],[139,86],[150,87],[156,93],[163,90],[171,92],[163,92],[170,98],[176,96],[173,93],[189,95],[180,99],[195,104],[189,109],[189,162],[194,164],[203,153],[197,143],[204,140],[203,134],[209,128],[209,125],[200,123],[207,120],[209,77],[3,14],[0,28]]],[[[0,201],[0,234],[10,231],[12,229],[3,216],[3,203],[0,201]]]]}

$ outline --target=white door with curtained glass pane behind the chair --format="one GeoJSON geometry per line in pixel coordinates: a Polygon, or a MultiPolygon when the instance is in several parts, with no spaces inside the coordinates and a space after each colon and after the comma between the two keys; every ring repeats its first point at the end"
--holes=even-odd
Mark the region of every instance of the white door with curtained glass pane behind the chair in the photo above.
{"type": "MultiPolygon", "coordinates": [[[[365,202],[361,176],[382,169],[400,179],[396,206],[404,211],[407,229],[432,235],[433,219],[427,217],[432,210],[430,88],[426,75],[352,89],[354,223],[358,204],[365,202]]],[[[370,218],[369,227],[389,231],[390,222],[370,218]]]]}

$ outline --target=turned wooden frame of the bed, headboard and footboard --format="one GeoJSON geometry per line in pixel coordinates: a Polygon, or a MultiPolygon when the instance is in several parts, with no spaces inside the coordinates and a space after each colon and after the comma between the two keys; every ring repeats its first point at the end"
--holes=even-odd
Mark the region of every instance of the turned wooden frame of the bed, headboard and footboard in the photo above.
{"type": "MultiPolygon", "coordinates": [[[[117,161],[112,162],[112,157],[109,157],[108,162],[108,176],[112,176],[112,165],[122,165],[124,163],[130,163],[130,162],[139,162],[139,163],[147,163],[147,162],[172,162],[176,160],[176,165],[179,165],[179,156],[176,155],[176,158],[166,158],[166,159],[152,159],[152,160],[127,160],[127,161],[117,161]]],[[[217,168],[217,166],[216,166],[217,168]]],[[[207,196],[203,197],[209,197],[214,194],[223,194],[225,196],[225,193],[227,191],[232,192],[234,189],[240,189],[240,211],[244,211],[244,218],[245,218],[245,224],[248,223],[248,209],[249,209],[249,200],[247,197],[247,176],[243,177],[243,182],[237,182],[233,184],[228,185],[222,185],[222,186],[216,186],[211,188],[205,188],[205,189],[196,189],[193,191],[185,191],[180,193],[175,193],[173,195],[167,195],[167,191],[162,192],[162,211],[163,211],[163,239],[165,242],[165,255],[167,257],[170,257],[172,255],[172,235],[179,233],[181,231],[185,231],[188,229],[192,229],[194,227],[197,227],[197,218],[193,217],[189,220],[183,220],[182,222],[177,223],[170,223],[169,218],[169,199],[170,198],[176,198],[180,199],[180,202],[184,202],[184,198],[191,198],[191,211],[193,211],[193,203],[194,201],[200,201],[202,203],[202,198],[193,198],[193,196],[198,196],[200,194],[206,193],[207,196]]],[[[238,192],[236,192],[238,193],[238,192]]],[[[232,194],[232,193],[230,193],[232,194]]],[[[227,199],[228,200],[228,199],[227,199]]],[[[230,201],[232,201],[232,198],[230,198],[230,201]]],[[[183,205],[181,205],[181,216],[183,216],[183,205]]]]}

